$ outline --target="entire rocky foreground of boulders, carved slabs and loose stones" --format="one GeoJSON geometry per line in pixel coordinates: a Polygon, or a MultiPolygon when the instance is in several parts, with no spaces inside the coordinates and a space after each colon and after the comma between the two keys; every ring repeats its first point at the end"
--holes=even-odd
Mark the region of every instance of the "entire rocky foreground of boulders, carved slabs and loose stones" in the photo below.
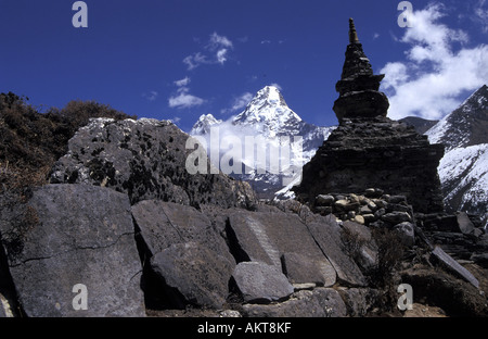
{"type": "Polygon", "coordinates": [[[487,315],[488,237],[472,216],[418,214],[380,189],[323,192],[313,210],[258,203],[246,184],[188,175],[187,138],[151,120],[81,128],[52,184],[2,211],[2,312],[401,315],[410,284],[414,302],[487,315]],[[87,310],[73,304],[79,284],[87,310]]]}

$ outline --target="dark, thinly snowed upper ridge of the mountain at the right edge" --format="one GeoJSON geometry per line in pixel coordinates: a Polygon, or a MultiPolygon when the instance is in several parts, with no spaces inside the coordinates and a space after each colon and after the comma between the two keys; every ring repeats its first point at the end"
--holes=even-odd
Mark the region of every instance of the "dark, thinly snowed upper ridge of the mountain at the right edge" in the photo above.
{"type": "Polygon", "coordinates": [[[475,91],[457,110],[427,130],[431,142],[444,143],[446,151],[488,143],[488,87],[475,91]]]}

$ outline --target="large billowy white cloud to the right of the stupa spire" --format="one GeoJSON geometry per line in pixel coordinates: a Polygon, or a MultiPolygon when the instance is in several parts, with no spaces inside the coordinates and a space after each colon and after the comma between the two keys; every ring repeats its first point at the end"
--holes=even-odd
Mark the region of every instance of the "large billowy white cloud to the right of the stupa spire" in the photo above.
{"type": "Polygon", "coordinates": [[[465,98],[466,91],[488,78],[488,46],[466,48],[468,36],[439,23],[445,16],[439,4],[413,12],[412,28],[399,42],[409,45],[406,62],[387,63],[383,88],[389,96],[391,118],[416,115],[441,118],[465,98]],[[454,43],[461,43],[454,50],[454,43]]]}

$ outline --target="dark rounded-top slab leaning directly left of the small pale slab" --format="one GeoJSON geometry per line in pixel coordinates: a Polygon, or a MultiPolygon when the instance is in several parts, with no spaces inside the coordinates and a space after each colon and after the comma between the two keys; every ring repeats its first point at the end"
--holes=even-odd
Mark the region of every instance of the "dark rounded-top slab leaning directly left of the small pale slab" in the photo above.
{"type": "Polygon", "coordinates": [[[226,302],[234,268],[226,258],[198,242],[172,244],[155,254],[151,266],[185,302],[213,309],[226,302]]]}

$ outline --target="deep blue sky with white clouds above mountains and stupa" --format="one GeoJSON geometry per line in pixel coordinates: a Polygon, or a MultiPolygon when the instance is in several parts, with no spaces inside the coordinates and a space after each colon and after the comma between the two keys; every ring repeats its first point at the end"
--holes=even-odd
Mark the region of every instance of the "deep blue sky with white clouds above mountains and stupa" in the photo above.
{"type": "Polygon", "coordinates": [[[400,1],[0,0],[0,91],[64,106],[97,100],[188,131],[201,114],[227,120],[277,84],[305,121],[332,111],[352,16],[390,116],[439,118],[488,83],[488,0],[400,1]]]}

